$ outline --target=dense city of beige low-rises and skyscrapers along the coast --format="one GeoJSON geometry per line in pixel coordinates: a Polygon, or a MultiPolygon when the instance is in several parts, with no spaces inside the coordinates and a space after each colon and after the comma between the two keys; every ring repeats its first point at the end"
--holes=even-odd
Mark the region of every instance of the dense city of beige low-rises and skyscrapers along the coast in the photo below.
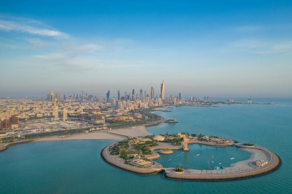
{"type": "MultiPolygon", "coordinates": [[[[147,95],[146,91],[144,91],[143,96],[141,88],[140,97],[138,94],[135,94],[135,90],[133,89],[132,95],[131,93],[125,92],[124,96],[120,96],[120,91],[118,90],[117,97],[110,96],[108,91],[106,98],[102,98],[99,94],[91,95],[82,90],[81,94],[74,93],[68,95],[68,97],[64,95],[63,98],[61,98],[61,92],[54,94],[51,91],[44,99],[0,99],[2,104],[7,104],[7,106],[0,107],[1,130],[24,129],[24,127],[27,127],[25,129],[28,131],[27,133],[41,132],[45,128],[46,130],[50,130],[50,125],[48,124],[45,125],[48,125],[47,127],[42,129],[40,127],[43,125],[32,128],[31,126],[20,125],[18,119],[21,122],[33,119],[44,119],[47,122],[47,119],[49,119],[57,125],[70,126],[72,125],[70,120],[73,118],[82,118],[82,121],[90,121],[91,124],[106,125],[111,122],[124,121],[126,117],[130,120],[131,117],[141,119],[142,115],[138,113],[139,110],[152,107],[168,105],[212,106],[219,103],[234,103],[233,99],[229,99],[227,102],[210,101],[209,96],[204,97],[204,100],[195,96],[191,96],[189,100],[185,100],[181,93],[178,93],[178,95],[170,94],[167,97],[165,96],[164,81],[160,85],[160,88],[160,97],[155,97],[154,87],[151,87],[150,96],[147,95]],[[62,111],[59,112],[59,110],[62,111]],[[59,118],[59,114],[62,115],[61,119],[59,118]],[[96,115],[97,117],[95,117],[96,115]],[[122,116],[124,116],[124,119],[121,119],[122,116]]],[[[248,103],[251,103],[251,96],[248,98],[248,103]]]]}

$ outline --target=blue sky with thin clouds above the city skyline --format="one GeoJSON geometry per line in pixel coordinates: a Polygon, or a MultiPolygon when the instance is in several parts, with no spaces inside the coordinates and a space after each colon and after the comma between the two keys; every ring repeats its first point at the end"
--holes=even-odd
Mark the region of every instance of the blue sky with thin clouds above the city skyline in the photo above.
{"type": "Polygon", "coordinates": [[[0,96],[292,96],[291,1],[13,1],[0,96]]]}

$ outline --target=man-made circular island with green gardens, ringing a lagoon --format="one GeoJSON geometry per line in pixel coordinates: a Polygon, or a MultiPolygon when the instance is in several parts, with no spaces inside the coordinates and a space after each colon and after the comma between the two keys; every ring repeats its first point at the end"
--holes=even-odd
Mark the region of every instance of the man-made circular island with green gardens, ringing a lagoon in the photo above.
{"type": "MultiPolygon", "coordinates": [[[[263,147],[253,144],[239,144],[233,140],[204,137],[165,137],[163,141],[151,139],[123,140],[105,147],[101,152],[102,160],[118,169],[138,175],[153,175],[163,171],[163,177],[180,181],[230,181],[258,177],[277,170],[281,166],[281,159],[277,154],[263,147]],[[136,143],[135,143],[136,142],[136,143]],[[143,142],[143,143],[141,143],[143,142]],[[173,142],[173,143],[169,143],[173,142]],[[155,162],[160,154],[172,154],[172,150],[188,150],[188,144],[203,144],[215,147],[235,146],[248,151],[248,160],[237,161],[230,167],[214,167],[209,169],[184,169],[183,166],[165,168],[155,162]],[[264,157],[263,157],[264,156],[264,157]]],[[[226,148],[227,149],[227,148],[226,148]]],[[[230,158],[233,159],[233,158],[230,158]]]]}

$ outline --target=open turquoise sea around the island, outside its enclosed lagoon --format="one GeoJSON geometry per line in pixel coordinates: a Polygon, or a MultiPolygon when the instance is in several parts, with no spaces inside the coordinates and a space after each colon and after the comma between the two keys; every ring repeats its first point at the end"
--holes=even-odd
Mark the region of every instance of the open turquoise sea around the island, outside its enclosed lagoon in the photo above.
{"type": "MultiPolygon", "coordinates": [[[[173,112],[157,114],[176,118],[179,123],[163,123],[147,130],[155,134],[185,131],[229,137],[239,142],[251,141],[274,151],[283,164],[273,173],[251,179],[171,181],[162,178],[161,173],[138,176],[107,165],[100,159],[100,151],[110,141],[27,143],[0,153],[0,193],[137,193],[146,189],[147,193],[292,193],[291,101],[277,105],[173,107],[169,110],[173,112]]],[[[196,146],[192,145],[191,149],[196,146]]]]}

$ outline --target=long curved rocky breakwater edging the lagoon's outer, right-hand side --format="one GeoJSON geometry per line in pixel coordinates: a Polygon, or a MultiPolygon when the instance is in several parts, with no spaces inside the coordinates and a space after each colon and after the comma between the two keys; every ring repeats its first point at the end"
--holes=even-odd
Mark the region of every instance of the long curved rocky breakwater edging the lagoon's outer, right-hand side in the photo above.
{"type": "Polygon", "coordinates": [[[270,153],[274,157],[274,162],[260,170],[255,170],[251,172],[244,172],[244,173],[237,173],[237,174],[208,174],[208,175],[184,175],[184,174],[175,174],[172,173],[172,169],[163,175],[164,178],[177,180],[177,181],[232,181],[232,180],[240,180],[240,179],[247,179],[253,177],[259,177],[271,172],[274,172],[281,166],[281,159],[277,156],[277,154],[270,151],[270,153]]]}

